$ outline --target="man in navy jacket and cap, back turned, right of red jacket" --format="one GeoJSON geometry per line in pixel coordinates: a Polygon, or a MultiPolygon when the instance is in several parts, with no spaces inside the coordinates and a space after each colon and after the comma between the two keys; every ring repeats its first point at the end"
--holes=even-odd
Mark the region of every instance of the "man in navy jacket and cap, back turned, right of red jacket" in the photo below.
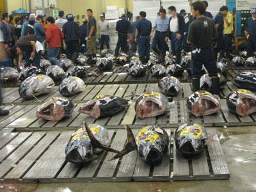
{"type": "Polygon", "coordinates": [[[67,57],[76,63],[79,52],[79,26],[74,22],[72,14],[68,14],[67,19],[68,22],[63,25],[63,42],[67,44],[67,57]]]}

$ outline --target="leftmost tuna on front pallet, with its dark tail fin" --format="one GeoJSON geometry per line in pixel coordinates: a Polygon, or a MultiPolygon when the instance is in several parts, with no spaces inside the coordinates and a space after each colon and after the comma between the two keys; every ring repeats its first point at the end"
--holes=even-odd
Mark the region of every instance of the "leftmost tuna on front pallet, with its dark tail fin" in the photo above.
{"type": "Polygon", "coordinates": [[[95,159],[102,150],[118,153],[118,150],[108,147],[109,143],[107,129],[100,125],[83,124],[72,134],[65,149],[65,159],[70,163],[84,164],[95,159]]]}

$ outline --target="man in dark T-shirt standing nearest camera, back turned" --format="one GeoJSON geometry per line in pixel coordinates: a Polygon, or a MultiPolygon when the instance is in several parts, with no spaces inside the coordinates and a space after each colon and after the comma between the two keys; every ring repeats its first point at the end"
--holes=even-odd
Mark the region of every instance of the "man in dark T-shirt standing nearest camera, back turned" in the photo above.
{"type": "Polygon", "coordinates": [[[191,75],[193,92],[200,90],[200,74],[202,65],[212,77],[211,93],[220,96],[220,79],[212,50],[212,39],[218,36],[214,22],[209,17],[204,17],[205,4],[196,1],[191,6],[191,12],[196,20],[189,26],[188,44],[192,44],[191,75]]]}

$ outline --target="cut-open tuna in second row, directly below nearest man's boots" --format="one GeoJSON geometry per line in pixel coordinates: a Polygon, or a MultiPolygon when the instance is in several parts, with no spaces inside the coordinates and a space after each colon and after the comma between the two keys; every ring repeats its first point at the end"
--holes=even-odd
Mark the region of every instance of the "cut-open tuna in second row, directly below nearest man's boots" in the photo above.
{"type": "Polygon", "coordinates": [[[192,93],[187,99],[187,106],[195,116],[211,115],[220,111],[220,97],[206,91],[192,93]]]}

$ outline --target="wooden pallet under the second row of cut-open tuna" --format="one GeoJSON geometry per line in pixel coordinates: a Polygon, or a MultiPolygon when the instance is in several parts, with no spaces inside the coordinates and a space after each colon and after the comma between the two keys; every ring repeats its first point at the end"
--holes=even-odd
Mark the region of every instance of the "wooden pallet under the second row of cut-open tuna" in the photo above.
{"type": "MultiPolygon", "coordinates": [[[[39,106],[26,105],[15,106],[10,109],[10,115],[0,119],[1,127],[15,128],[17,131],[46,131],[76,129],[85,120],[88,124],[102,125],[108,129],[124,129],[124,125],[138,127],[143,125],[161,125],[161,127],[178,127],[187,122],[196,122],[205,127],[211,126],[245,126],[256,125],[256,113],[246,116],[238,116],[230,113],[226,100],[220,100],[221,111],[208,116],[196,118],[186,106],[186,100],[174,100],[170,103],[170,111],[164,115],[141,119],[136,116],[134,110],[135,102],[132,102],[129,109],[106,118],[95,119],[91,116],[78,113],[78,109],[83,104],[75,104],[72,116],[60,122],[47,121],[36,118],[36,110],[39,106]]],[[[9,106],[6,106],[8,108],[9,106]]]]}

